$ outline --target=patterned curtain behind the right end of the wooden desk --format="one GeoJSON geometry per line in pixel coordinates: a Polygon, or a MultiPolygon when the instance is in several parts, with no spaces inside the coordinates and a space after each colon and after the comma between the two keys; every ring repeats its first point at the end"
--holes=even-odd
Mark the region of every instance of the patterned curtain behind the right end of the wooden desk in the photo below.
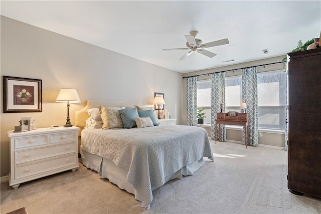
{"type": "MultiPolygon", "coordinates": [[[[242,69],[242,102],[246,102],[249,118],[249,145],[258,145],[258,104],[257,104],[257,71],[256,67],[242,69]]],[[[243,130],[243,144],[245,134],[243,130]]]]}

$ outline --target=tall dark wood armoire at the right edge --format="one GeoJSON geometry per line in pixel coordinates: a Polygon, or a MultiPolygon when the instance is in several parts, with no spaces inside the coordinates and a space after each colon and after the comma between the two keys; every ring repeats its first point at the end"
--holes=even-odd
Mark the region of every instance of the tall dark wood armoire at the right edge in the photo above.
{"type": "Polygon", "coordinates": [[[321,48],[288,55],[287,186],[321,197],[321,48]]]}

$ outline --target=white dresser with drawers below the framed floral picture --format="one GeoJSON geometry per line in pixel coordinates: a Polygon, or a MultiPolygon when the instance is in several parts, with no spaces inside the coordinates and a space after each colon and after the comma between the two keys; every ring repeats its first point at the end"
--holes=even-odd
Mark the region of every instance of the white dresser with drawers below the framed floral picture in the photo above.
{"type": "Polygon", "coordinates": [[[9,185],[71,169],[78,164],[78,127],[8,131],[10,137],[9,185]]]}

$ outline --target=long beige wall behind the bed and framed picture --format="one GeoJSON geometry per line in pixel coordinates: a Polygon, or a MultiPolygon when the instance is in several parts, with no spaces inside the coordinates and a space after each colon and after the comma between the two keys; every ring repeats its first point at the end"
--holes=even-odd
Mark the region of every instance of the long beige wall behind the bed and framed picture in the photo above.
{"type": "Polygon", "coordinates": [[[60,88],[76,88],[82,101],[71,104],[73,124],[88,99],[151,104],[154,92],[165,93],[166,108],[182,124],[181,73],[2,16],[1,84],[3,76],[41,79],[43,112],[3,113],[1,93],[1,176],[9,173],[7,131],[20,117],[33,117],[38,127],[65,124],[65,104],[55,102],[60,88]]]}

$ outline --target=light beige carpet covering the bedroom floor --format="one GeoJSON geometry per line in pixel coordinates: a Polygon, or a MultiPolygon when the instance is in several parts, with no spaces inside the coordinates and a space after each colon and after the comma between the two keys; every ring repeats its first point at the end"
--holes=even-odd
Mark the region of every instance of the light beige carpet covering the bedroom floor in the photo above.
{"type": "Polygon", "coordinates": [[[23,183],[1,183],[1,213],[321,213],[321,199],[287,189],[286,151],[211,141],[214,162],[153,191],[150,209],[80,166],[23,183]]]}

